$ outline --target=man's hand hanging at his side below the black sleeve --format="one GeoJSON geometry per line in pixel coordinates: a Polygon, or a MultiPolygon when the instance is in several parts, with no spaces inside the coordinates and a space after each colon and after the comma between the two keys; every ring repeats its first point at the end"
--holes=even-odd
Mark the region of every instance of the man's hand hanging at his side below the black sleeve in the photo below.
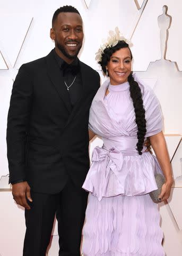
{"type": "Polygon", "coordinates": [[[32,201],[30,194],[30,186],[27,181],[19,182],[12,185],[12,194],[13,199],[16,201],[16,204],[23,206],[25,209],[30,210],[30,206],[27,203],[27,199],[30,202],[32,201]]]}

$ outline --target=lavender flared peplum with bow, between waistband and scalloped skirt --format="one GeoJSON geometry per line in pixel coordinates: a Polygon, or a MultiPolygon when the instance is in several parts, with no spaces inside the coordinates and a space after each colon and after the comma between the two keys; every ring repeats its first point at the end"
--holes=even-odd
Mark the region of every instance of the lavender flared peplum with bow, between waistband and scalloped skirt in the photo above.
{"type": "Polygon", "coordinates": [[[97,196],[145,195],[157,189],[154,174],[161,173],[155,156],[143,153],[127,155],[112,147],[96,147],[92,154],[92,166],[83,188],[97,196]]]}

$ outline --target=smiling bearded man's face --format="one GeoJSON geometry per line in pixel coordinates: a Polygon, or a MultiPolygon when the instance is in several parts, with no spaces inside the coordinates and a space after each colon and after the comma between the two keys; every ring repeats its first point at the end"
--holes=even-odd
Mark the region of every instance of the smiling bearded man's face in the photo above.
{"type": "Polygon", "coordinates": [[[55,41],[56,53],[67,63],[71,63],[79,54],[83,36],[83,22],[78,13],[59,13],[50,29],[50,38],[55,41]]]}

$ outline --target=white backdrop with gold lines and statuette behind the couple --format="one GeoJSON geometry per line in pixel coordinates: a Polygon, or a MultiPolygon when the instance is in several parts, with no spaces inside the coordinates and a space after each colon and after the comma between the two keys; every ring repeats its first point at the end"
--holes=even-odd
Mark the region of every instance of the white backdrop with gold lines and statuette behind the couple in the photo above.
{"type": "MultiPolygon", "coordinates": [[[[157,94],[164,115],[164,133],[172,167],[172,199],[160,206],[163,246],[167,256],[182,253],[182,2],[181,0],[1,0],[0,10],[0,255],[22,255],[24,211],[8,185],[6,120],[13,80],[22,63],[41,58],[54,47],[49,37],[51,18],[58,7],[75,6],[84,22],[80,59],[99,71],[94,60],[102,38],[116,26],[131,38],[133,70],[157,94]],[[167,7],[163,7],[167,6],[167,7]],[[168,9],[168,10],[167,10],[168,9]]],[[[102,145],[98,138],[90,143],[102,145]]],[[[57,228],[48,255],[58,253],[57,228]]]]}

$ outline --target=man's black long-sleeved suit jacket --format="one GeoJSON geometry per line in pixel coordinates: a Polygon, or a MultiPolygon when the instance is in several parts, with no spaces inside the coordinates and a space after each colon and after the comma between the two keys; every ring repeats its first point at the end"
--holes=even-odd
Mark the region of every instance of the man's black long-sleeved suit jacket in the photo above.
{"type": "Polygon", "coordinates": [[[100,86],[97,71],[80,61],[83,91],[74,108],[54,53],[21,66],[7,118],[10,182],[54,194],[67,175],[82,186],[89,170],[88,120],[100,86]]]}

